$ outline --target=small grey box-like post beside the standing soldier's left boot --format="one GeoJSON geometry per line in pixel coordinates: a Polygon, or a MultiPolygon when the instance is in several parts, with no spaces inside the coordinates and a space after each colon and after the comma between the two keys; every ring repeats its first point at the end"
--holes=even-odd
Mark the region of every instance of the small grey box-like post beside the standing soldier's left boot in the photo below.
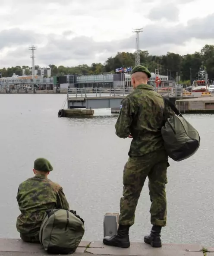
{"type": "Polygon", "coordinates": [[[116,235],[119,223],[119,213],[106,213],[104,215],[103,229],[104,237],[116,235]]]}

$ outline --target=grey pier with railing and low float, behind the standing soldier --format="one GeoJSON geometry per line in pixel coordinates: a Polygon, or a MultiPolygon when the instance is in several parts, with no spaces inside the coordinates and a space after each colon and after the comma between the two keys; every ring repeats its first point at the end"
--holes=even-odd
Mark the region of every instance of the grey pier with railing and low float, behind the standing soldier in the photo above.
{"type": "MultiPolygon", "coordinates": [[[[183,88],[154,87],[159,94],[172,98],[183,97],[183,88]]],[[[67,94],[67,109],[61,109],[58,117],[72,117],[76,114],[92,117],[94,109],[110,108],[112,114],[118,114],[121,101],[133,92],[133,88],[69,88],[67,94]],[[81,111],[82,112],[81,112],[81,111]]]]}

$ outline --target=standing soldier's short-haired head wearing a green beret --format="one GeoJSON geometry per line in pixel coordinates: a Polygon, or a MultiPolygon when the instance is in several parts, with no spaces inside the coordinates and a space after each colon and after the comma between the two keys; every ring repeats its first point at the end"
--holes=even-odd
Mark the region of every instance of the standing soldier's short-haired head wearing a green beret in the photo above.
{"type": "Polygon", "coordinates": [[[151,78],[151,73],[145,66],[135,66],[131,72],[131,80],[133,88],[136,88],[140,84],[147,84],[149,78],[151,78]]]}

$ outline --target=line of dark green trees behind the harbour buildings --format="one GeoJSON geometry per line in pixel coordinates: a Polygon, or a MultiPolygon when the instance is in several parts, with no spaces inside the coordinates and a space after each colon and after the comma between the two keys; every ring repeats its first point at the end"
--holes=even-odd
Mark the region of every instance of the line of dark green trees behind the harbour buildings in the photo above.
{"type": "MultiPolygon", "coordinates": [[[[159,62],[159,74],[169,75],[171,79],[180,76],[183,81],[197,79],[198,70],[201,63],[206,67],[208,79],[214,80],[214,45],[206,44],[200,52],[181,56],[172,52],[167,52],[166,55],[155,56],[148,51],[140,52],[141,65],[146,66],[150,72],[155,72],[157,69],[157,60],[159,62]]],[[[115,73],[115,70],[120,67],[134,67],[135,54],[129,52],[118,52],[115,57],[109,57],[105,63],[92,63],[91,66],[86,64],[65,67],[49,65],[52,76],[63,75],[98,75],[104,73],[115,73]]],[[[0,69],[2,77],[16,75],[22,76],[22,69],[28,66],[15,66],[0,69]]],[[[39,66],[35,66],[38,69],[39,66]]],[[[30,75],[31,71],[26,70],[26,75],[30,75]]]]}

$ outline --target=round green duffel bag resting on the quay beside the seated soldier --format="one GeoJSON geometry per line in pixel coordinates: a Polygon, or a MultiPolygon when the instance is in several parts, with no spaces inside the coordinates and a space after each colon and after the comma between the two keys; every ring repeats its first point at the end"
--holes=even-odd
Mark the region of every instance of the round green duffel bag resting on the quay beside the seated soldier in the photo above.
{"type": "Polygon", "coordinates": [[[52,254],[74,253],[85,233],[84,221],[75,211],[48,210],[41,224],[39,240],[52,254]]]}

